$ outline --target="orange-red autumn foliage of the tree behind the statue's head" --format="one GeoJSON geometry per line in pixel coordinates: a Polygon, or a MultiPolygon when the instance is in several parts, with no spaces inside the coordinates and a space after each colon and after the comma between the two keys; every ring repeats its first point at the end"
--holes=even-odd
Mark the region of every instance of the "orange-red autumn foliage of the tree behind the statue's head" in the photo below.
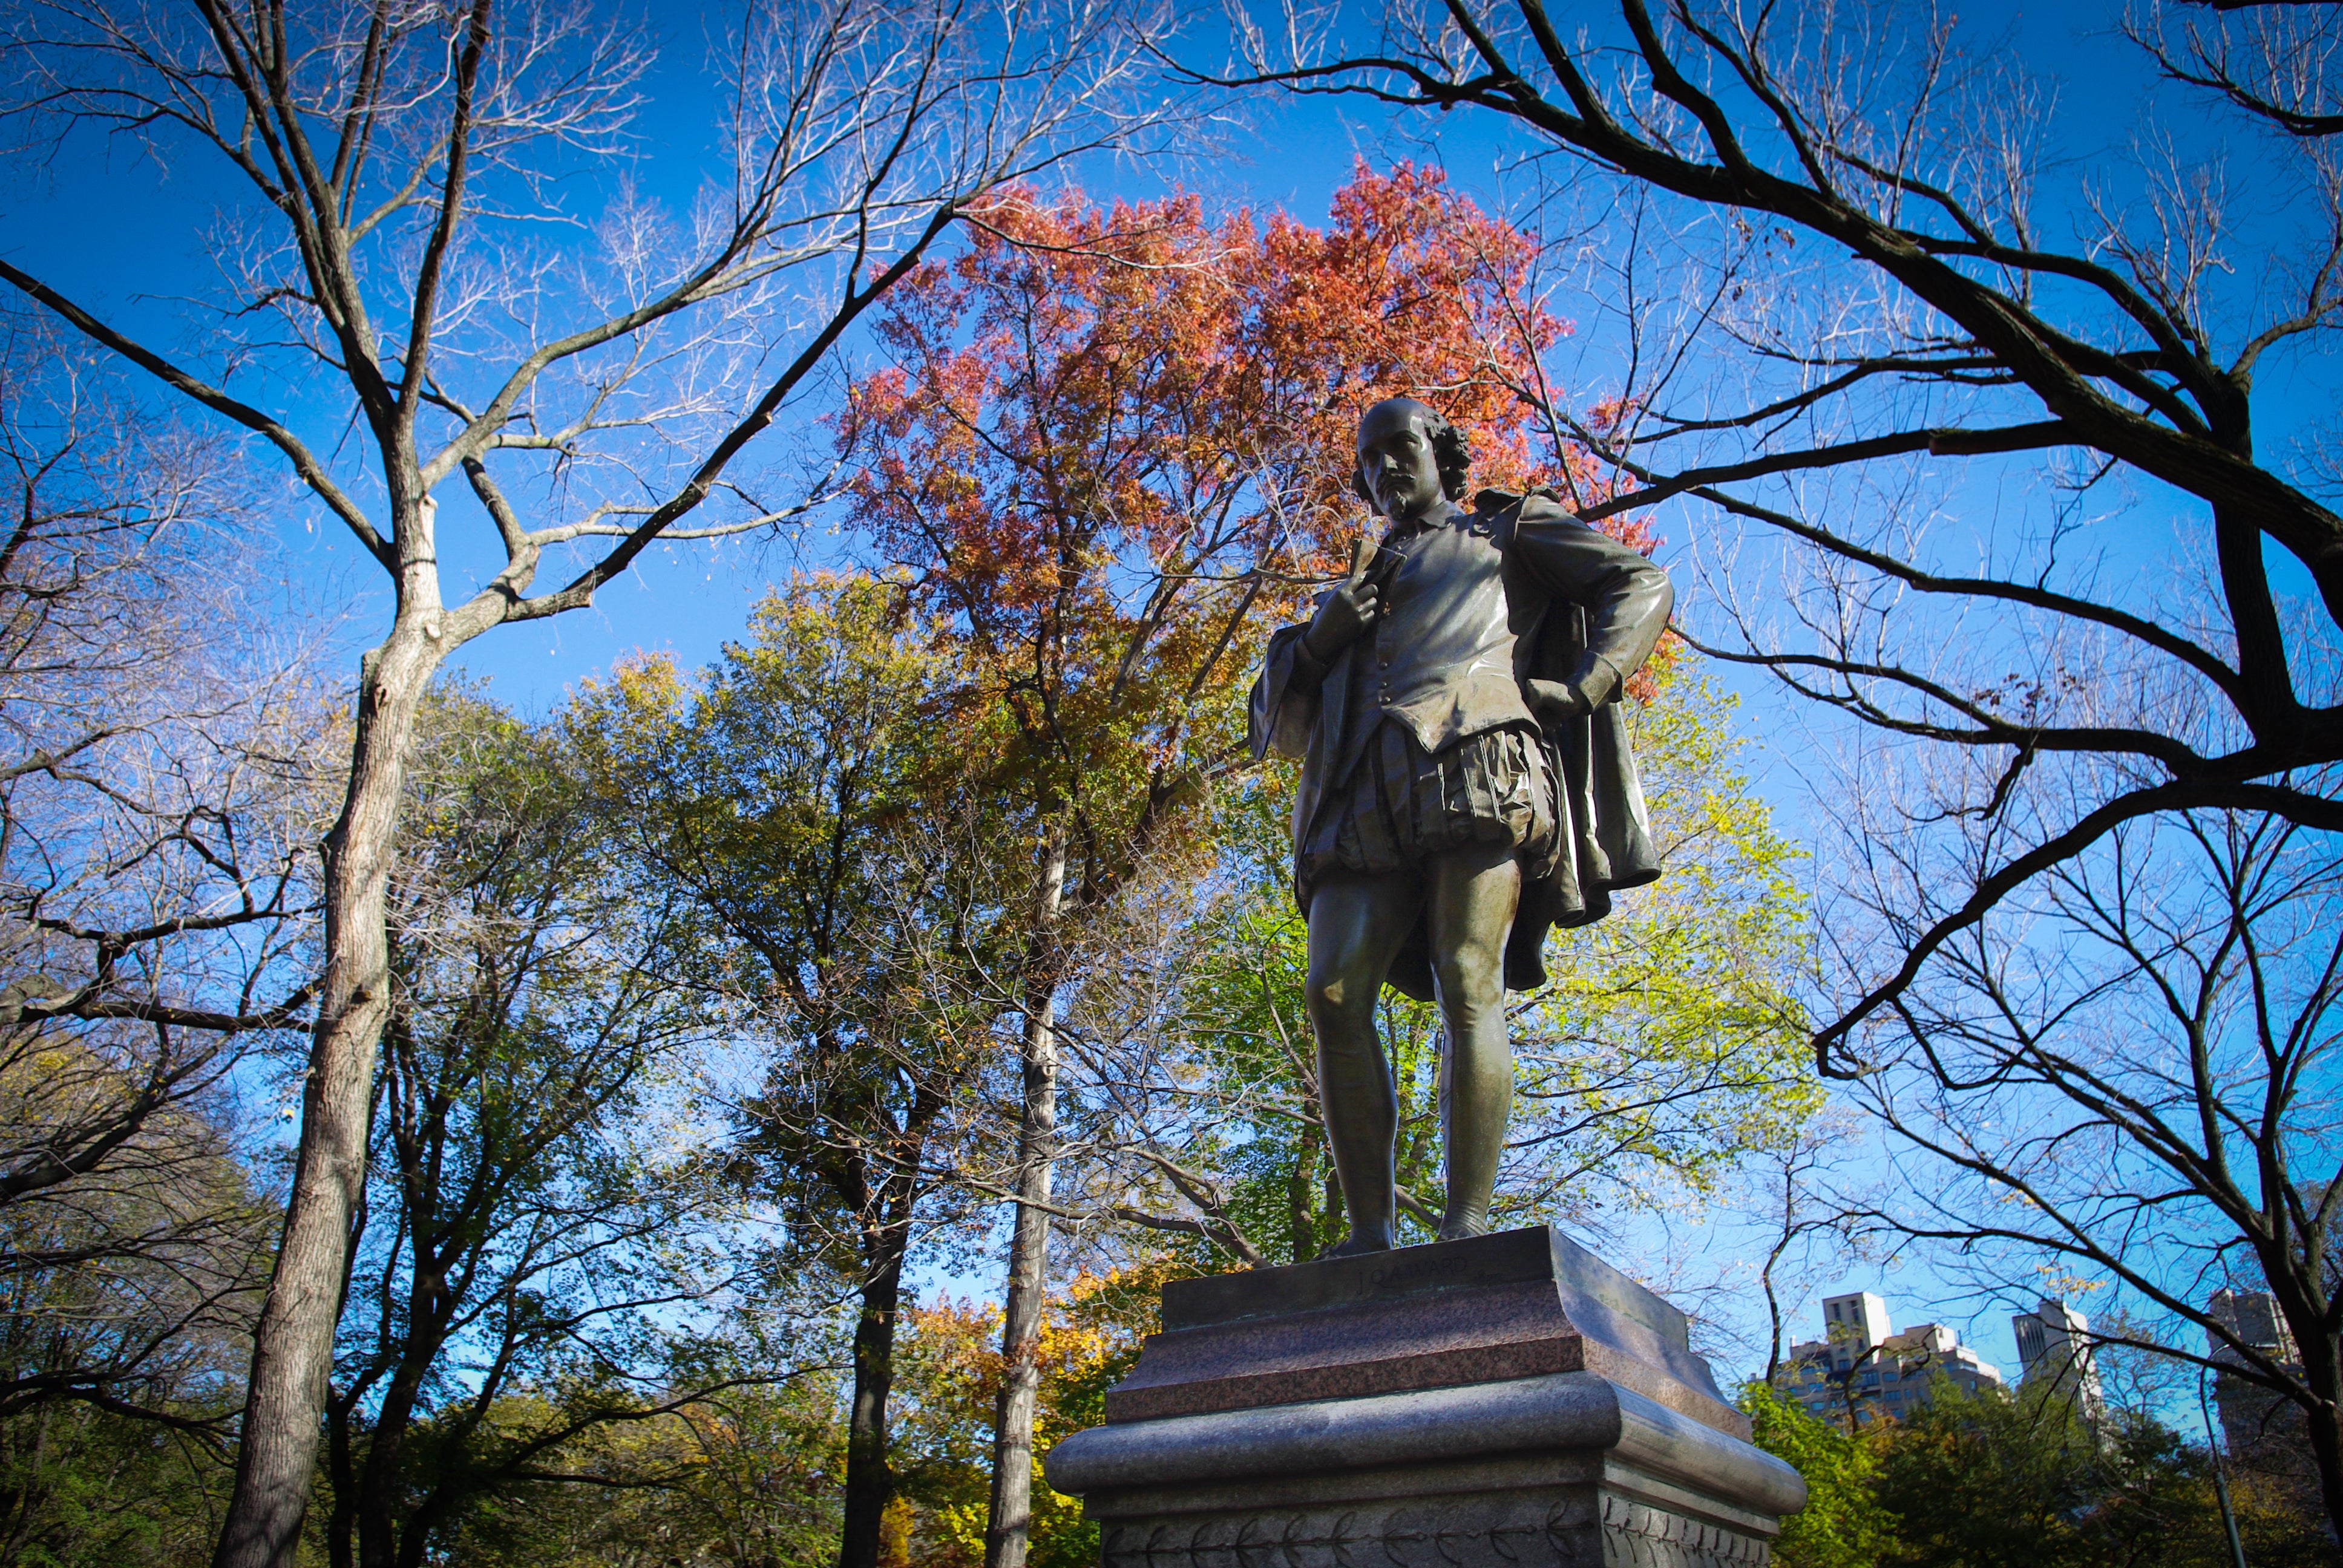
{"type": "Polygon", "coordinates": [[[968,647],[970,738],[1071,809],[1094,879],[1235,766],[1261,638],[1371,525],[1359,413],[1422,396],[1476,485],[1528,488],[1514,387],[1567,323],[1535,244],[1410,164],[1361,162],[1324,227],[1010,190],[972,232],[888,295],[893,363],[839,445],[862,525],[968,647]]]}

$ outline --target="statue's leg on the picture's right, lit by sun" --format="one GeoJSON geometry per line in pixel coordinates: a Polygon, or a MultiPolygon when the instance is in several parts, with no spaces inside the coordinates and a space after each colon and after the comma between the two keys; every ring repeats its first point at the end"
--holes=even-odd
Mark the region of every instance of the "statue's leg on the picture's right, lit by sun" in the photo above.
{"type": "Polygon", "coordinates": [[[1514,1041],[1504,1029],[1504,940],[1521,902],[1511,846],[1476,844],[1425,863],[1432,977],[1448,1027],[1441,1144],[1448,1212],[1441,1240],[1488,1233],[1504,1127],[1514,1113],[1514,1041]]]}

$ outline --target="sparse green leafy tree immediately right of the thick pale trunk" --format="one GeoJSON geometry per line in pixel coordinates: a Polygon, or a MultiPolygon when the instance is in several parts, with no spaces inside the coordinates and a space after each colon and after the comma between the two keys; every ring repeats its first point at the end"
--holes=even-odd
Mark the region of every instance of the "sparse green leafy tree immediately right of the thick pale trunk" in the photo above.
{"type": "Polygon", "coordinates": [[[586,1432],[759,1376],[715,1355],[759,1327],[684,1099],[724,1024],[684,984],[686,900],[621,874],[553,727],[462,689],[422,724],[328,1402],[326,1545],[366,1568],[417,1568],[586,1432]]]}

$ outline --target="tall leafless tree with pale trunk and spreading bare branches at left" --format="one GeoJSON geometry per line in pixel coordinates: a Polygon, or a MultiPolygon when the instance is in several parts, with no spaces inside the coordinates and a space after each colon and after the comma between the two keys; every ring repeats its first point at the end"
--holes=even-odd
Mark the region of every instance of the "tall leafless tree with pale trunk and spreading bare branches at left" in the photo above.
{"type": "Polygon", "coordinates": [[[138,340],[14,263],[0,279],[276,448],[394,591],[389,635],[361,661],[326,841],[302,1153],[223,1568],[291,1561],[316,1458],[389,1005],[391,825],[431,673],[492,626],[588,605],[654,539],[785,518],[794,506],[736,476],[740,452],[970,199],[1132,129],[1118,113],[1127,23],[1104,0],[747,5],[710,52],[722,155],[686,176],[698,190],[677,213],[616,162],[644,136],[654,59],[649,28],[616,12],[16,12],[7,61],[26,124],[194,152],[225,216],[206,237],[220,260],[206,330],[183,347],[138,340]],[[342,420],[361,443],[305,434],[342,420]],[[459,478],[504,565],[450,602],[438,497],[459,478]],[[562,546],[569,581],[532,591],[562,546]]]}

